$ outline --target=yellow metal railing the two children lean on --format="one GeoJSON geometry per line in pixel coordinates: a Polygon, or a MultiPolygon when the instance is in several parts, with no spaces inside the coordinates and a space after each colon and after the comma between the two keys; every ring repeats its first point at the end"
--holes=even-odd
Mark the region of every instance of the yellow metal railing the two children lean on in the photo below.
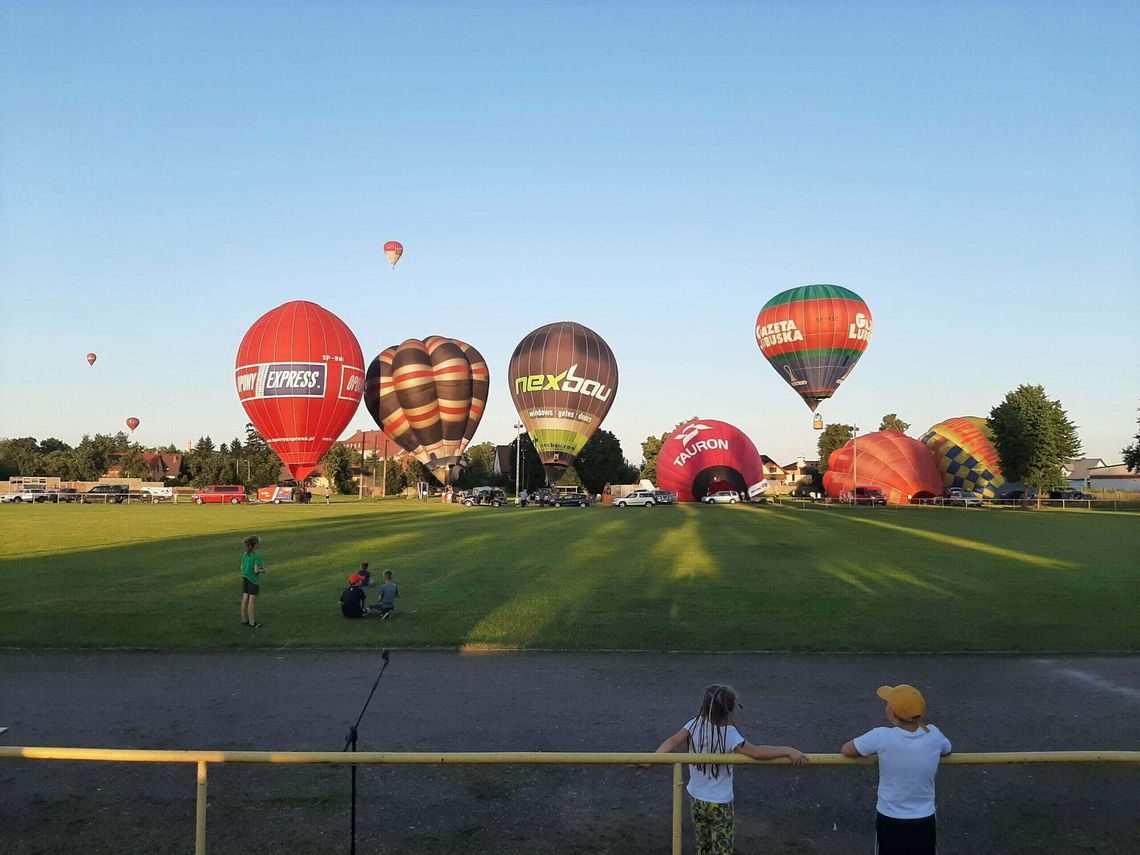
{"type": "MultiPolygon", "coordinates": [[[[811,766],[857,766],[876,763],[873,757],[844,757],[838,754],[808,755],[811,766]]],[[[418,765],[603,765],[673,766],[673,853],[681,855],[682,766],[690,763],[777,766],[787,759],[754,760],[743,755],[719,754],[593,754],[578,751],[160,751],[128,748],[0,748],[0,760],[98,760],[103,763],[193,763],[197,765],[197,807],[194,852],[206,852],[206,767],[211,763],[307,764],[333,766],[372,764],[418,765]]],[[[1140,751],[996,751],[954,754],[942,758],[943,765],[1005,763],[1140,763],[1140,751]]]]}

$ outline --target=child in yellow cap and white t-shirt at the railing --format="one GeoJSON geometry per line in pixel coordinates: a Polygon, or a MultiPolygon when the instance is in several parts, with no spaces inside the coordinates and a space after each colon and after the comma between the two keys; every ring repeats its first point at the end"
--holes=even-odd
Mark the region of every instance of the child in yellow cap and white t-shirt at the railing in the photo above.
{"type": "Polygon", "coordinates": [[[950,740],[926,724],[926,699],[914,686],[879,686],[889,727],[874,727],[842,747],[845,757],[879,756],[874,836],[878,855],[935,855],[934,779],[950,740]]]}

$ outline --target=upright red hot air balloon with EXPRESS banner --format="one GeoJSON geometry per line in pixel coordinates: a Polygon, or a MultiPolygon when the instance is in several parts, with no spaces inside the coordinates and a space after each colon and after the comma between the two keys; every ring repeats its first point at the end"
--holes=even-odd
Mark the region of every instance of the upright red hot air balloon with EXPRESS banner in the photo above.
{"type": "Polygon", "coordinates": [[[364,356],[343,320],[294,300],[253,323],[237,348],[234,377],[253,426],[301,481],[360,405],[364,356]]]}

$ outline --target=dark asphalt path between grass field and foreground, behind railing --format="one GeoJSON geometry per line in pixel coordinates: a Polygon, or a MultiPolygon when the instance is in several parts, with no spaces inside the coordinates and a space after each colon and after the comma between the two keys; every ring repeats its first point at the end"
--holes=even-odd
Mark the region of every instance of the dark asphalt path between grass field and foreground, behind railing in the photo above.
{"type": "MultiPolygon", "coordinates": [[[[0,651],[7,746],[341,750],[378,650],[0,651]]],[[[754,743],[833,754],[919,686],[958,751],[1140,749],[1134,656],[392,651],[360,750],[651,751],[714,682],[754,743]]],[[[349,850],[349,771],[212,766],[209,852],[349,850]]],[[[360,853],[662,853],[667,768],[359,772],[360,853]]],[[[739,853],[871,853],[876,769],[736,771],[739,853]]],[[[0,762],[0,852],[193,850],[193,766],[0,762]]],[[[1140,852],[1140,766],[947,766],[939,853],[1140,852]]],[[[686,800],[687,812],[687,800],[686,800]]],[[[685,817],[685,852],[692,852],[685,817]]]]}

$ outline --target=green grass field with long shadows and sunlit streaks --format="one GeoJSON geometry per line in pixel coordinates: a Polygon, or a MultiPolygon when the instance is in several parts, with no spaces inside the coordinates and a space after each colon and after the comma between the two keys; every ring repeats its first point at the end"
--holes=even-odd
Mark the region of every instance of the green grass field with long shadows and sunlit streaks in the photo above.
{"type": "Polygon", "coordinates": [[[691,506],[0,507],[0,645],[1135,651],[1140,519],[691,506]],[[263,629],[239,626],[262,538],[263,629]],[[345,620],[357,562],[394,620],[345,620]]]}

